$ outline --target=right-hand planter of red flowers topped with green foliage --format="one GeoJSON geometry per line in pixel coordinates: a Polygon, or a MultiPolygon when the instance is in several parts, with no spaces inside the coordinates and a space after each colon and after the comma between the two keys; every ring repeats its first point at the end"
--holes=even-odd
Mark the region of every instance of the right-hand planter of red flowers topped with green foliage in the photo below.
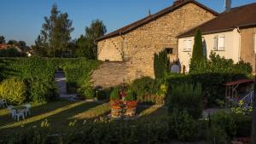
{"type": "Polygon", "coordinates": [[[124,101],[125,101],[125,116],[126,117],[135,116],[137,101],[136,101],[135,92],[132,89],[127,90],[124,101]]]}

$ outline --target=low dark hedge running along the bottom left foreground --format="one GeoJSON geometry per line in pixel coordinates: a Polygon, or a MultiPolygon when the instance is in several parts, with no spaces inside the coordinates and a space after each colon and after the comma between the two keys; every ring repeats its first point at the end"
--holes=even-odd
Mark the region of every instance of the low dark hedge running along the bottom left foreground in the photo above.
{"type": "Polygon", "coordinates": [[[168,141],[168,124],[166,118],[144,121],[114,121],[85,123],[70,127],[62,135],[49,135],[49,128],[23,129],[9,137],[0,139],[0,143],[42,143],[42,144],[154,144],[168,141]]]}

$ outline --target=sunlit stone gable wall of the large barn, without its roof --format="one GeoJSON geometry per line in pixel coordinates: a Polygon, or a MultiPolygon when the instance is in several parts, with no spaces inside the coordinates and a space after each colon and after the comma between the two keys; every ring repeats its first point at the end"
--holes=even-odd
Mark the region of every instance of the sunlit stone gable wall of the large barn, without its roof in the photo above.
{"type": "Polygon", "coordinates": [[[154,53],[173,48],[169,57],[177,60],[177,35],[214,17],[195,3],[188,3],[125,35],[102,40],[98,43],[98,59],[123,61],[129,81],[143,76],[154,78],[154,53]]]}

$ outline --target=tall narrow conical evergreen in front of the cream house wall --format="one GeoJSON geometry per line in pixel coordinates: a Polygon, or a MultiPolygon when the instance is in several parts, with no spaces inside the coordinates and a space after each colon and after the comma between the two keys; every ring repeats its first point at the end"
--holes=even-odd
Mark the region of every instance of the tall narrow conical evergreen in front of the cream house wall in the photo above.
{"type": "Polygon", "coordinates": [[[204,72],[206,67],[206,57],[203,55],[201,31],[195,32],[195,43],[193,47],[192,58],[189,64],[190,73],[204,72]]]}

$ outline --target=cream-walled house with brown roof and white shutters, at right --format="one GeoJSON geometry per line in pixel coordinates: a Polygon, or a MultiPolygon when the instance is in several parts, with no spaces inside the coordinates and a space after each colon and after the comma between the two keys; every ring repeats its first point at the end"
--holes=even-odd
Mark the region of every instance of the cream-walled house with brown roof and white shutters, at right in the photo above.
{"type": "Polygon", "coordinates": [[[209,58],[211,52],[232,59],[244,60],[253,66],[256,58],[256,3],[227,9],[217,18],[178,36],[178,58],[183,72],[189,72],[194,34],[200,29],[204,52],[209,58]]]}

